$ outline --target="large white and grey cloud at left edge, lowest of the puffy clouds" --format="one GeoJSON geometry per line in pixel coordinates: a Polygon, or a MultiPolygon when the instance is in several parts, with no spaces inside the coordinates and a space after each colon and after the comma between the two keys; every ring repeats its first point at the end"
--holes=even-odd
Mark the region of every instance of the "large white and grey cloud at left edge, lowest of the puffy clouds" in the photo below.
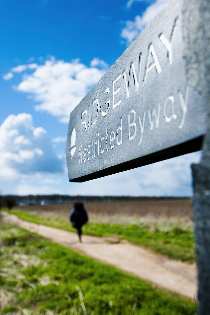
{"type": "Polygon", "coordinates": [[[52,147],[42,127],[35,128],[31,114],[9,115],[0,126],[0,176],[10,178],[37,173],[63,173],[64,159],[52,147]]]}

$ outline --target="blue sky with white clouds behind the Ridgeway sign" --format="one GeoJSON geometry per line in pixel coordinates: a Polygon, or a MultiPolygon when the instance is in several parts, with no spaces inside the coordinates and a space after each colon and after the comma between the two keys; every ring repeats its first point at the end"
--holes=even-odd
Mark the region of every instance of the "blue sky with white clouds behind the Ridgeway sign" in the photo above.
{"type": "Polygon", "coordinates": [[[200,152],[82,184],[66,171],[71,110],[166,3],[0,2],[1,194],[192,194],[200,152]]]}

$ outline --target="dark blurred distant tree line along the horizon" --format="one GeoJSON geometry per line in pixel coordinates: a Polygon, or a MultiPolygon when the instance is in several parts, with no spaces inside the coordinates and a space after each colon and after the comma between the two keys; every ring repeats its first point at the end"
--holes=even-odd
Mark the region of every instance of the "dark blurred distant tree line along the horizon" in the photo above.
{"type": "MultiPolygon", "coordinates": [[[[27,195],[27,196],[0,196],[0,207],[13,208],[15,205],[35,205],[52,203],[80,202],[113,202],[164,199],[165,197],[131,197],[131,196],[69,196],[69,195],[27,195]]],[[[167,199],[174,197],[167,197],[167,199]]]]}

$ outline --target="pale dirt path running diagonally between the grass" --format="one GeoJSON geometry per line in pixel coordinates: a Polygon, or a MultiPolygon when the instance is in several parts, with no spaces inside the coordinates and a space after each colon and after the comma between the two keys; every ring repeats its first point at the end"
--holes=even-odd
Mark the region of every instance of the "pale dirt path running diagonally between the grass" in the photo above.
{"type": "Polygon", "coordinates": [[[149,250],[126,241],[114,242],[114,238],[82,237],[77,234],[20,220],[16,215],[1,212],[3,221],[36,232],[55,243],[71,247],[98,261],[113,265],[160,287],[194,299],[196,296],[196,264],[189,265],[156,255],[149,250]],[[108,240],[112,240],[108,242],[108,240]]]}

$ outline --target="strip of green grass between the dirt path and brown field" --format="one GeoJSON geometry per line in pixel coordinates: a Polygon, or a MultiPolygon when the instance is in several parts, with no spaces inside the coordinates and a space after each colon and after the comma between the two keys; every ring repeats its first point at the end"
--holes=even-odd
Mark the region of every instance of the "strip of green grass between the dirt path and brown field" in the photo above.
{"type": "MultiPolygon", "coordinates": [[[[25,221],[75,232],[70,222],[64,219],[39,217],[18,210],[9,211],[9,213],[13,213],[25,221]]],[[[192,228],[184,228],[180,222],[162,222],[156,226],[149,223],[111,225],[109,223],[89,222],[83,226],[83,234],[98,237],[119,235],[119,239],[128,240],[136,245],[143,245],[158,254],[190,263],[195,261],[195,241],[192,228]]]]}

